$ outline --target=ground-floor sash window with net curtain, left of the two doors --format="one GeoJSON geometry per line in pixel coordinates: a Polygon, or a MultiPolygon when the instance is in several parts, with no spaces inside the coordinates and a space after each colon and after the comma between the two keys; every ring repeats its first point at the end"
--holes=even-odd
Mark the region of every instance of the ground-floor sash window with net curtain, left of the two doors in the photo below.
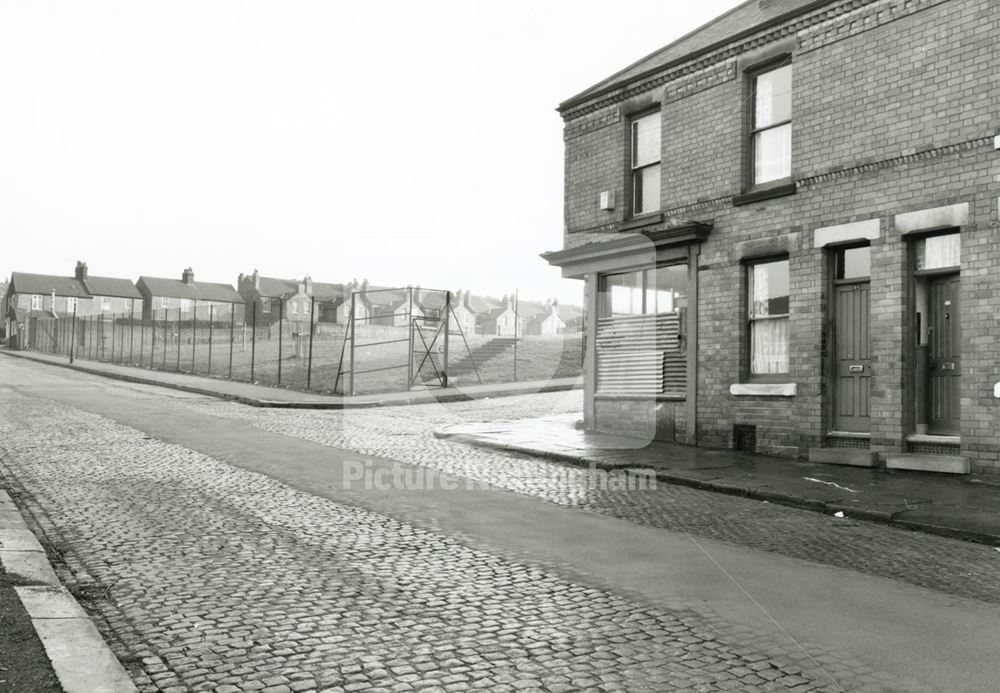
{"type": "Polygon", "coordinates": [[[750,375],[788,373],[788,259],[747,267],[750,375]]]}

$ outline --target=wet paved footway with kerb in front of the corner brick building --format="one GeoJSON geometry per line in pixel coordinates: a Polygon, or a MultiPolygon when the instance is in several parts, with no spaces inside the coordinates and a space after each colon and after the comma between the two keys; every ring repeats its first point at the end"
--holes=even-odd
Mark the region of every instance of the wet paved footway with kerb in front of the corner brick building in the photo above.
{"type": "Polygon", "coordinates": [[[1000,545],[1000,478],[816,464],[663,442],[641,446],[580,430],[578,420],[462,423],[435,435],[598,469],[649,469],[672,484],[1000,545]]]}

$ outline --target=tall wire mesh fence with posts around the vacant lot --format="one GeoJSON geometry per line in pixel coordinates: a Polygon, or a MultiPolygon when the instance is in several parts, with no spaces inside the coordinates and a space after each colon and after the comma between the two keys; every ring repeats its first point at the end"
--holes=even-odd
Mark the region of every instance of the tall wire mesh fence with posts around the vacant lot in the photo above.
{"type": "MultiPolygon", "coordinates": [[[[28,348],[73,359],[190,373],[330,394],[399,392],[572,377],[581,373],[579,324],[557,334],[486,325],[463,314],[455,295],[407,288],[357,292],[341,322],[310,314],[245,319],[214,307],[162,309],[147,317],[106,313],[32,317],[28,348]],[[391,292],[392,300],[389,300],[391,292]],[[382,295],[379,295],[379,294],[382,295]],[[348,310],[349,307],[349,310],[348,310]],[[489,331],[489,334],[483,334],[489,331]],[[499,333],[499,334],[498,334],[499,333]]],[[[337,315],[324,311],[325,315],[337,315]]],[[[527,324],[517,319],[514,325],[527,324]]]]}

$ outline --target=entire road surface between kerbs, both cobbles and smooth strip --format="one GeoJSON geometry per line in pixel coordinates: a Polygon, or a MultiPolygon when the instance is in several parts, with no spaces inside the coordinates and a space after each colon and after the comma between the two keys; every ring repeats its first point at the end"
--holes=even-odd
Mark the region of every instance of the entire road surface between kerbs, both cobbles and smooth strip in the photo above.
{"type": "Polygon", "coordinates": [[[0,486],[143,691],[996,688],[990,547],[431,435],[578,397],[275,412],[0,359],[0,486]]]}

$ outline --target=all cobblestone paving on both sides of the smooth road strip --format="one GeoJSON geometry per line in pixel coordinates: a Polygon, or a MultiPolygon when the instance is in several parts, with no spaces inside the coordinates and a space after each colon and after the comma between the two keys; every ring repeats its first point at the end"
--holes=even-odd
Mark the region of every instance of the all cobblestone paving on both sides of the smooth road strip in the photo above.
{"type": "MultiPolygon", "coordinates": [[[[601,492],[588,470],[431,434],[578,411],[578,392],[348,412],[150,397],[165,417],[235,419],[1000,603],[1000,554],[988,547],[682,487],[601,492]]],[[[775,644],[703,604],[651,605],[6,388],[0,441],[0,485],[44,530],[60,577],[144,692],[919,690],[844,653],[775,644]]]]}

